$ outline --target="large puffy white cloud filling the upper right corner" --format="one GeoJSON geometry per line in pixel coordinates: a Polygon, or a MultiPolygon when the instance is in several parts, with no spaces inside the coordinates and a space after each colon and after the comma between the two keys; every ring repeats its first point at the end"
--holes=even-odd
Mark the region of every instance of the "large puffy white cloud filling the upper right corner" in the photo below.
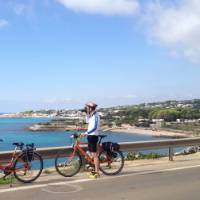
{"type": "Polygon", "coordinates": [[[163,3],[151,0],[140,20],[152,42],[167,47],[173,55],[200,62],[200,3],[182,0],[163,3]]]}

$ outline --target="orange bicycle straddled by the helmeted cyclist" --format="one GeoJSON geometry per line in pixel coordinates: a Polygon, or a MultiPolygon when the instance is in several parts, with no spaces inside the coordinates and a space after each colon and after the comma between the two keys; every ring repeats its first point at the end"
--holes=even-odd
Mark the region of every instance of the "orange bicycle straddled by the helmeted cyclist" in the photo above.
{"type": "MultiPolygon", "coordinates": [[[[71,136],[74,139],[72,146],[72,152],[67,153],[67,151],[61,151],[57,154],[55,158],[55,168],[56,171],[64,177],[72,177],[76,175],[83,165],[84,157],[87,163],[94,168],[94,161],[86,152],[81,145],[86,145],[87,143],[80,141],[80,135],[73,134],[71,136]]],[[[124,156],[120,150],[115,150],[113,154],[108,154],[104,149],[101,148],[101,141],[106,135],[99,135],[100,139],[98,141],[99,162],[100,171],[105,175],[116,175],[120,173],[124,167],[124,156]]]]}

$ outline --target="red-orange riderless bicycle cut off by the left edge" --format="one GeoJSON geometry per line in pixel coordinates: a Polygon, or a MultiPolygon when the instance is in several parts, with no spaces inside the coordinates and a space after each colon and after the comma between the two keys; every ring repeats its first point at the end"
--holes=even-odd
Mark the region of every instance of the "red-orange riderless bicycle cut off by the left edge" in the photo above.
{"type": "Polygon", "coordinates": [[[0,164],[0,170],[4,173],[3,179],[13,174],[22,183],[35,181],[43,170],[42,157],[35,152],[36,148],[33,143],[24,145],[22,142],[15,142],[13,145],[15,149],[11,159],[7,163],[0,164]]]}

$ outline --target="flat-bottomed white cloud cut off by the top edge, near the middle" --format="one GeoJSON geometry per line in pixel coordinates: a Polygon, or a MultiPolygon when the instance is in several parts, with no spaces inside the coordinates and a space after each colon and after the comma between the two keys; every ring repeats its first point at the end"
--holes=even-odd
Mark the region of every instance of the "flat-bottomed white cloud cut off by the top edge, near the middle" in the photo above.
{"type": "Polygon", "coordinates": [[[56,0],[75,12],[102,15],[134,15],[139,10],[137,0],[56,0]]]}

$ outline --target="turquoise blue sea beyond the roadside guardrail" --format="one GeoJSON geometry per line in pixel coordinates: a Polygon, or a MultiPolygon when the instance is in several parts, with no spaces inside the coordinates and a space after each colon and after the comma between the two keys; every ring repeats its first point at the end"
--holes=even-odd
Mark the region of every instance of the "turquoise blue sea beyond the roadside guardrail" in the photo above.
{"type": "MultiPolygon", "coordinates": [[[[34,143],[36,148],[42,147],[59,147],[69,146],[72,144],[70,136],[73,132],[66,131],[29,131],[28,127],[36,123],[49,122],[50,118],[1,118],[0,119],[0,152],[13,150],[14,142],[23,142],[25,144],[34,143]]],[[[128,133],[113,133],[106,132],[107,136],[104,141],[113,142],[135,142],[160,140],[164,138],[152,137],[150,135],[128,134],[128,133]]],[[[168,149],[149,150],[146,153],[156,152],[160,154],[167,154],[168,149]]],[[[45,164],[50,165],[49,162],[45,164]]]]}

